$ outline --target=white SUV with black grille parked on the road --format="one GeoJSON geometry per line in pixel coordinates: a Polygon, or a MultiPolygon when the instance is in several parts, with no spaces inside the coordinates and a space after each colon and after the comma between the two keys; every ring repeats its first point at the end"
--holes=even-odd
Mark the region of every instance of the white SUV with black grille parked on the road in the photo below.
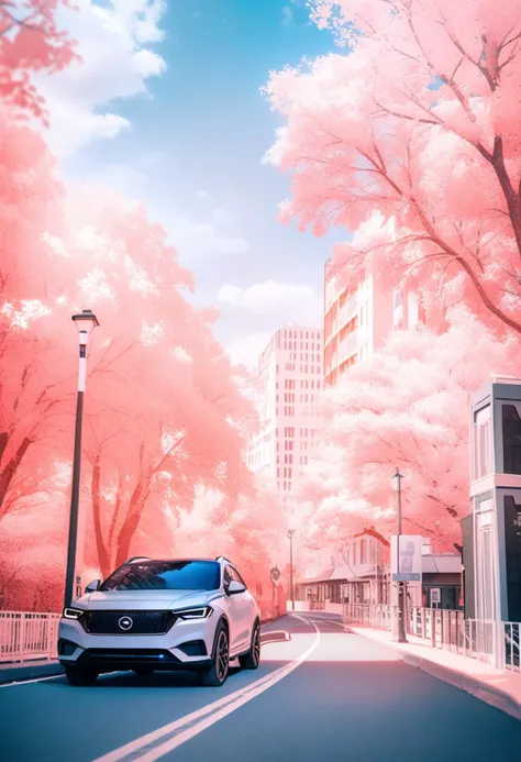
{"type": "Polygon", "coordinates": [[[193,670],[202,685],[219,686],[230,660],[258,666],[258,606],[224,557],[130,559],[85,593],[59,621],[58,658],[71,685],[102,672],[193,670]]]}

